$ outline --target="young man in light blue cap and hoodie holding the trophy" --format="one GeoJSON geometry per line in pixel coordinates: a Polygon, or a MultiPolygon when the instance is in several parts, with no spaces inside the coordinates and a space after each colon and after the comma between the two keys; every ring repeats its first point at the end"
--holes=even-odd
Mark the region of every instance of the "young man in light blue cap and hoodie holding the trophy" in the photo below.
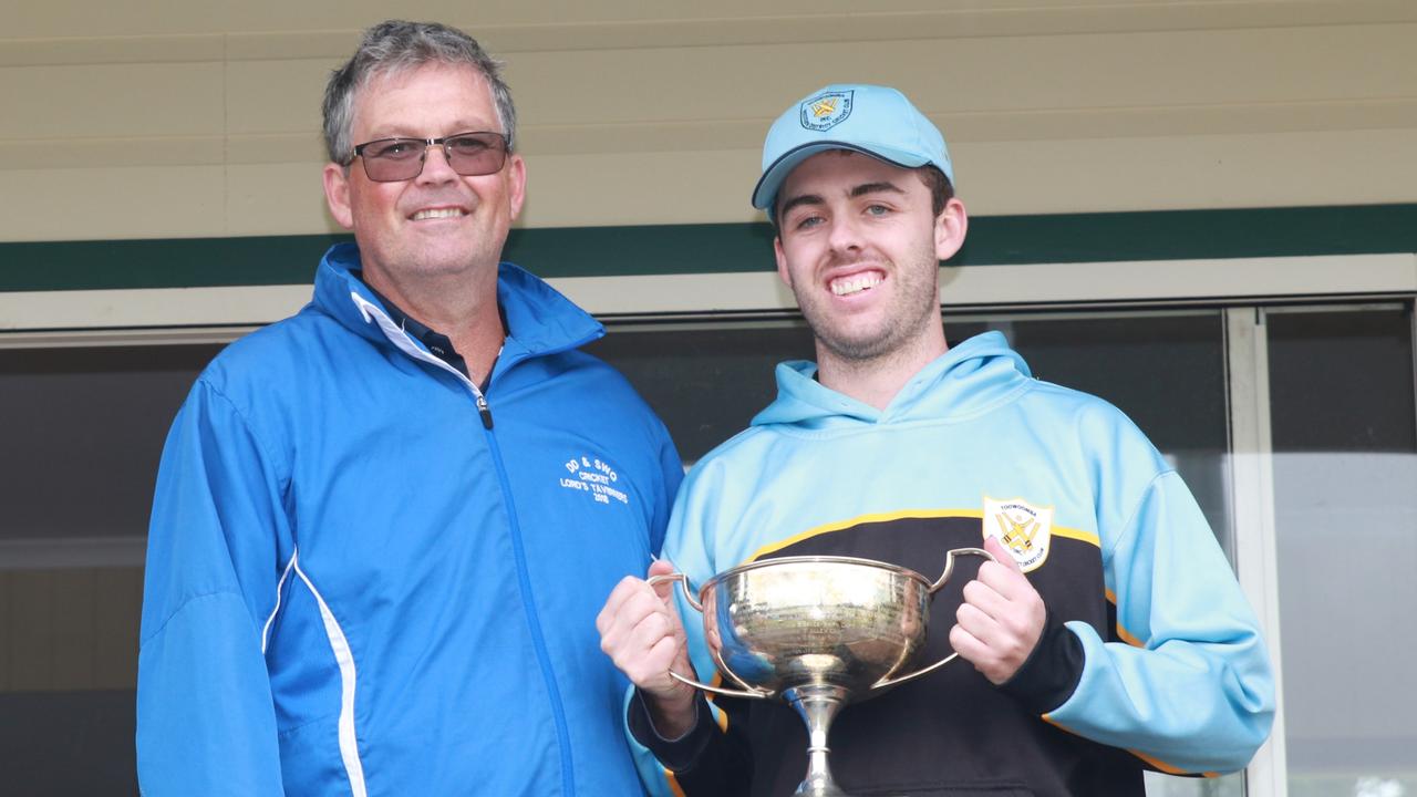
{"type": "MultiPolygon", "coordinates": [[[[752,203],[777,224],[778,274],[818,360],[778,366],[777,401],[699,461],[663,557],[694,586],[779,556],[862,556],[930,579],[949,549],[983,543],[998,559],[934,598],[921,661],[954,648],[972,668],[836,719],[840,787],[1139,796],[1145,769],[1243,767],[1274,686],[1190,492],[1117,408],[1032,379],[1002,335],[945,342],[938,261],[968,218],[934,125],[894,89],[826,87],[772,125],[762,169],[752,203]]],[[[714,665],[700,618],[667,594],[626,579],[597,621],[636,684],[633,736],[684,794],[791,794],[806,770],[801,719],[778,702],[710,709],[669,678],[708,681],[714,665]]]]}

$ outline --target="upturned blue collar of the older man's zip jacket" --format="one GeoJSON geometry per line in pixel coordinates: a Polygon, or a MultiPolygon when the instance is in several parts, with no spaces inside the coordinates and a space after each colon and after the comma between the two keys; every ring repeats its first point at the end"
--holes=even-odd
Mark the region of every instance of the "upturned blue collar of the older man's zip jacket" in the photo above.
{"type": "MultiPolygon", "coordinates": [[[[359,247],[336,244],[324,252],[315,274],[316,309],[337,319],[356,335],[385,342],[351,294],[383,308],[364,282],[351,274],[361,269],[359,247]]],[[[598,321],[529,271],[503,262],[497,267],[497,303],[507,322],[503,357],[550,355],[584,346],[605,335],[598,321]]]]}

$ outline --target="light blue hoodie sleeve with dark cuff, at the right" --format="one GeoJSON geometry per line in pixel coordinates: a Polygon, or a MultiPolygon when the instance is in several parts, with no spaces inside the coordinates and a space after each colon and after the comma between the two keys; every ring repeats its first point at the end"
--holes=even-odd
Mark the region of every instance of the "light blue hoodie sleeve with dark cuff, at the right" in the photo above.
{"type": "Polygon", "coordinates": [[[1102,556],[1122,641],[1080,621],[1068,634],[1050,617],[1016,679],[1037,686],[1053,671],[1054,688],[1015,693],[1046,720],[1161,771],[1243,769],[1270,733],[1274,681],[1258,623],[1180,476],[1152,479],[1115,540],[1102,556]],[[1078,675],[1057,703],[1061,668],[1078,675]]]}

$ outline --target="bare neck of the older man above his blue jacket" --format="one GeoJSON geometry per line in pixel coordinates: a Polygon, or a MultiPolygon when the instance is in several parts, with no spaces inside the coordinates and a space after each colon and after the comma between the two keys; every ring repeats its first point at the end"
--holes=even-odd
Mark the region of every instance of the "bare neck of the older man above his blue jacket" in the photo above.
{"type": "Polygon", "coordinates": [[[486,275],[479,274],[476,281],[461,275],[444,281],[395,282],[384,274],[364,271],[364,278],[376,291],[452,340],[475,384],[486,381],[506,338],[497,311],[497,272],[486,269],[486,275]]]}

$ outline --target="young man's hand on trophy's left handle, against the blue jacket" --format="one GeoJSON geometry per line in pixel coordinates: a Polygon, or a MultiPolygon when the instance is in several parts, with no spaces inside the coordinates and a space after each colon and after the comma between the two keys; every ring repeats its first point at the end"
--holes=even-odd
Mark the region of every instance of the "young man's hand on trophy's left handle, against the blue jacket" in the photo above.
{"type": "MultiPolygon", "coordinates": [[[[649,566],[649,577],[673,572],[673,564],[665,560],[649,566]]],[[[693,686],[669,676],[673,669],[694,678],[673,590],[673,581],[652,587],[645,579],[626,576],[595,618],[601,650],[639,686],[655,730],[666,739],[683,736],[693,728],[697,702],[693,686]]]]}

